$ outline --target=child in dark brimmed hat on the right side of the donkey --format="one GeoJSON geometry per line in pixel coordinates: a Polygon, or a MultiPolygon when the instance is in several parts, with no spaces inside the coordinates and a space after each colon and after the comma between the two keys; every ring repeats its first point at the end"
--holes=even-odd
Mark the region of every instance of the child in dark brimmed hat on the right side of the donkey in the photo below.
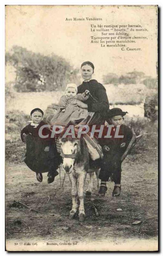
{"type": "Polygon", "coordinates": [[[128,112],[123,112],[120,108],[112,108],[108,110],[108,120],[106,121],[113,125],[110,133],[112,138],[104,138],[108,131],[108,128],[105,127],[103,136],[101,139],[99,139],[99,143],[104,149],[104,157],[102,159],[101,170],[98,177],[101,180],[101,185],[98,192],[100,196],[105,196],[107,191],[106,181],[108,181],[109,178],[114,181],[112,196],[120,196],[121,156],[128,147],[133,135],[131,129],[122,124],[124,120],[123,116],[125,116],[126,113],[128,112]],[[116,136],[114,135],[116,128],[119,128],[118,135],[121,135],[121,138],[115,138],[116,136]]]}

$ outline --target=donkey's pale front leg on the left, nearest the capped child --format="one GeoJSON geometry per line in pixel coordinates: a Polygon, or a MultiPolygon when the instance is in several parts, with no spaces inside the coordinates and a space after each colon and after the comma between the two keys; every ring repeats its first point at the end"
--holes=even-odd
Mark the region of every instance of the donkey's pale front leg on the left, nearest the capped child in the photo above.
{"type": "Polygon", "coordinates": [[[73,203],[72,209],[69,214],[69,219],[73,219],[77,212],[77,187],[76,187],[77,179],[72,175],[72,173],[69,174],[69,179],[71,181],[71,187],[72,187],[71,195],[72,195],[72,203],[73,203]]]}

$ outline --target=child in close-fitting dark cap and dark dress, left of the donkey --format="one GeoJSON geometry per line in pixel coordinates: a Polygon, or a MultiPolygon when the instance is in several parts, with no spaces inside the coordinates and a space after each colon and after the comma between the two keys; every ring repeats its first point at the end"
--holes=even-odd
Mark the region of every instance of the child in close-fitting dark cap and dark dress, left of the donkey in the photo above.
{"type": "Polygon", "coordinates": [[[51,132],[44,128],[43,135],[49,135],[44,139],[39,136],[39,129],[43,122],[43,110],[35,108],[30,113],[30,124],[21,130],[21,140],[26,142],[26,157],[24,162],[34,172],[36,172],[36,179],[39,182],[43,180],[43,172],[48,172],[48,183],[54,181],[55,176],[58,175],[58,153],[56,146],[50,138],[51,132]],[[25,135],[26,134],[26,139],[25,135]]]}

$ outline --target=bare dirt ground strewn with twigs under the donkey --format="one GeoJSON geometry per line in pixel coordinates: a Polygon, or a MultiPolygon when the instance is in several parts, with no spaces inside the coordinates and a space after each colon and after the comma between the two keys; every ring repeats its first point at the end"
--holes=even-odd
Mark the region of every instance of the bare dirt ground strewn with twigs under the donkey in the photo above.
{"type": "MultiPolygon", "coordinates": [[[[47,184],[22,164],[6,163],[6,240],[99,241],[106,238],[155,238],[158,235],[157,147],[150,140],[141,154],[128,155],[122,164],[122,191],[112,198],[108,182],[104,198],[97,195],[97,180],[91,197],[85,197],[84,222],[69,220],[71,185],[66,176],[63,188],[59,175],[47,184]],[[94,206],[99,216],[95,215],[94,206]],[[122,211],[117,211],[121,208],[122,211]],[[139,225],[133,225],[140,220],[139,225]]],[[[61,180],[64,172],[61,170],[61,180]]],[[[89,175],[87,176],[86,187],[89,175]]]]}

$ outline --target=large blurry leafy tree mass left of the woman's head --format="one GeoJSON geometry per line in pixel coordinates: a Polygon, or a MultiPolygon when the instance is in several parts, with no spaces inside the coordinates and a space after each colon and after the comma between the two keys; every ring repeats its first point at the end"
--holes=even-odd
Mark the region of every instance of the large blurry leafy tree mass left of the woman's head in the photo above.
{"type": "Polygon", "coordinates": [[[62,90],[69,81],[77,81],[78,70],[72,71],[70,64],[55,54],[45,56],[13,46],[11,52],[6,53],[5,61],[16,69],[18,92],[62,90]]]}

